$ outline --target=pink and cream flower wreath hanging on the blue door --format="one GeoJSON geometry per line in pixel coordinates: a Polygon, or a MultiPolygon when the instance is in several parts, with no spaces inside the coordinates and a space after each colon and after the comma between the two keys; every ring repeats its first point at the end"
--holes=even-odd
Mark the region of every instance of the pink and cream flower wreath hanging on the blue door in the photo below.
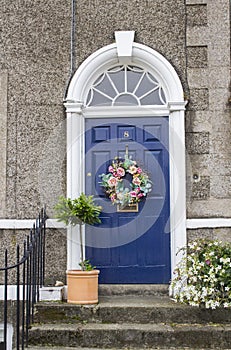
{"type": "Polygon", "coordinates": [[[100,184],[112,204],[119,204],[122,207],[140,202],[152,190],[147,173],[127,155],[125,159],[116,157],[109,165],[108,173],[99,176],[102,178],[100,184]],[[129,188],[125,185],[125,177],[127,180],[130,177],[129,188]]]}

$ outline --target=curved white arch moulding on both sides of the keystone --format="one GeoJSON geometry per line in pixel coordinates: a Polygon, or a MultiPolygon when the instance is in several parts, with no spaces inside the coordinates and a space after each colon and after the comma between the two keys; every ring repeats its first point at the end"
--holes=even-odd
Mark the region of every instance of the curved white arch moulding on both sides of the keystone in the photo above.
{"type": "MultiPolygon", "coordinates": [[[[83,102],[96,77],[118,63],[116,44],[105,46],[90,55],[74,74],[66,101],[83,102]]],[[[130,63],[152,73],[162,83],[169,102],[181,102],[185,105],[180,79],[173,66],[161,54],[148,46],[133,43],[130,63]]]]}

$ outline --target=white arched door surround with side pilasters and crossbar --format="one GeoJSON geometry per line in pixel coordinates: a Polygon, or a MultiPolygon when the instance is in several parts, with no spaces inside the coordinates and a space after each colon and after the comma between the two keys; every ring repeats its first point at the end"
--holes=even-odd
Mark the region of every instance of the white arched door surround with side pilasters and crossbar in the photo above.
{"type": "MultiPolygon", "coordinates": [[[[172,272],[181,258],[176,254],[186,244],[186,175],[185,175],[185,101],[182,84],[173,66],[158,52],[132,42],[128,64],[149,71],[162,85],[167,103],[161,106],[85,107],[88,91],[105,71],[122,62],[119,43],[105,46],[90,55],[74,74],[65,101],[67,112],[67,196],[75,198],[84,191],[84,120],[85,118],[113,118],[123,116],[169,115],[170,153],[170,227],[172,272]]],[[[68,230],[67,268],[78,266],[77,228],[68,230]]]]}

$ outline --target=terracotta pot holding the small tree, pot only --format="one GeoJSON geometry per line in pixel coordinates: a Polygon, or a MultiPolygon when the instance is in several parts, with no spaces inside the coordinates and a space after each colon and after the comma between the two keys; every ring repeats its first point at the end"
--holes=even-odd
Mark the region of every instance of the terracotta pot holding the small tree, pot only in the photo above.
{"type": "Polygon", "coordinates": [[[99,270],[67,271],[67,302],[73,304],[98,303],[99,270]]]}

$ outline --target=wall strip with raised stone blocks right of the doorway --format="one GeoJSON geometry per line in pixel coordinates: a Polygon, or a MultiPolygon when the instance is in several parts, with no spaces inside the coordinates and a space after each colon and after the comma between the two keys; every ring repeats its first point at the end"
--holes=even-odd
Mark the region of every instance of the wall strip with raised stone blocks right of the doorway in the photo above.
{"type": "Polygon", "coordinates": [[[231,216],[230,2],[187,0],[188,217],[231,216]]]}

